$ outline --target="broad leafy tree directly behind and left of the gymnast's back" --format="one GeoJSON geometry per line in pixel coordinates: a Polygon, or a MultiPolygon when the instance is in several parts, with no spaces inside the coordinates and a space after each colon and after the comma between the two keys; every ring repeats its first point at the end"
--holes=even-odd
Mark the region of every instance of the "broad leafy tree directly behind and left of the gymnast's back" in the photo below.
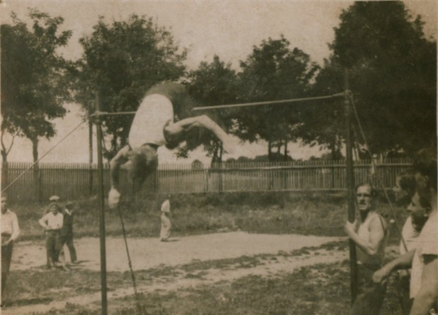
{"type": "MultiPolygon", "coordinates": [[[[78,62],[82,85],[77,100],[86,111],[92,109],[97,90],[101,111],[136,111],[149,87],[184,74],[186,51],[179,53],[172,35],[154,25],[152,18],[133,14],[110,25],[101,17],[93,29],[91,36],[80,39],[83,56],[78,62]]],[[[111,137],[108,159],[127,144],[132,120],[129,115],[103,120],[105,134],[111,137]]]]}

